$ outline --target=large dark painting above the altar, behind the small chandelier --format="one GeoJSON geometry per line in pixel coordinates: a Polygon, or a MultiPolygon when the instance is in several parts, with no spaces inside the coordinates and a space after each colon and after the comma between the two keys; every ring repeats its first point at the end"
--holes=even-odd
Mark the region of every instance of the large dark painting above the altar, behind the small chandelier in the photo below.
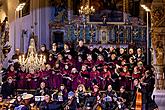
{"type": "Polygon", "coordinates": [[[95,13],[90,15],[90,22],[124,22],[123,0],[90,0],[95,13]]]}

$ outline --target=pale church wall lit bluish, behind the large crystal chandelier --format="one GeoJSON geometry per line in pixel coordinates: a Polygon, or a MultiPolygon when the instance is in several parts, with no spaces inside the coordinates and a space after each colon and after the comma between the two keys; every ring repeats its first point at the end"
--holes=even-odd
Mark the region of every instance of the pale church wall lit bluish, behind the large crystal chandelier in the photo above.
{"type": "MultiPolygon", "coordinates": [[[[9,1],[9,0],[8,0],[9,1]]],[[[16,35],[16,48],[20,48],[20,39],[22,36],[22,30],[27,31],[27,35],[24,35],[24,52],[28,48],[30,34],[32,32],[31,26],[34,26],[34,32],[38,36],[38,46],[45,43],[49,45],[49,20],[51,16],[50,8],[47,7],[47,0],[31,0],[31,11],[30,14],[22,18],[18,18],[15,14],[15,9],[18,4],[18,0],[10,0],[8,3],[8,14],[10,23],[10,43],[12,50],[9,53],[9,57],[14,53],[14,32],[16,35]],[[33,7],[33,8],[32,8],[33,7]],[[17,19],[15,20],[15,17],[17,19]],[[34,25],[37,23],[37,25],[34,25]],[[16,31],[15,31],[16,30],[16,31]]]]}

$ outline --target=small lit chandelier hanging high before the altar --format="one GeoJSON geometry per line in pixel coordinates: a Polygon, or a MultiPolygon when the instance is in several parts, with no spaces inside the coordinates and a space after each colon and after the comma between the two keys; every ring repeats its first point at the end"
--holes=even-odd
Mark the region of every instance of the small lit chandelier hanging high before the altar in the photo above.
{"type": "Polygon", "coordinates": [[[81,15],[92,15],[95,12],[95,9],[93,8],[93,6],[89,7],[89,5],[86,6],[81,6],[81,8],[79,9],[79,13],[81,15]]]}

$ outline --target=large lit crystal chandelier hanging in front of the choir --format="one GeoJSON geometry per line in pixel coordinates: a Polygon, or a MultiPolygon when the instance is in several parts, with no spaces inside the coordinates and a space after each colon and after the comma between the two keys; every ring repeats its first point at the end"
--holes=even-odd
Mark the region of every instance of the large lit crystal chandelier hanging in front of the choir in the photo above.
{"type": "Polygon", "coordinates": [[[24,66],[26,70],[39,70],[41,65],[46,62],[44,55],[38,55],[35,47],[35,41],[33,38],[30,39],[30,45],[28,48],[27,55],[19,56],[19,63],[24,66]]]}

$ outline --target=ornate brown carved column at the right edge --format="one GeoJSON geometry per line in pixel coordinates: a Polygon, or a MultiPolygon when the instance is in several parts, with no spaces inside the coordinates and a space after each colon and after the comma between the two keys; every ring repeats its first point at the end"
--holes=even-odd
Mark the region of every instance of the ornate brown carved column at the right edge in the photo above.
{"type": "Polygon", "coordinates": [[[151,28],[153,65],[156,75],[156,89],[165,89],[165,0],[153,0],[151,5],[151,28]]]}

